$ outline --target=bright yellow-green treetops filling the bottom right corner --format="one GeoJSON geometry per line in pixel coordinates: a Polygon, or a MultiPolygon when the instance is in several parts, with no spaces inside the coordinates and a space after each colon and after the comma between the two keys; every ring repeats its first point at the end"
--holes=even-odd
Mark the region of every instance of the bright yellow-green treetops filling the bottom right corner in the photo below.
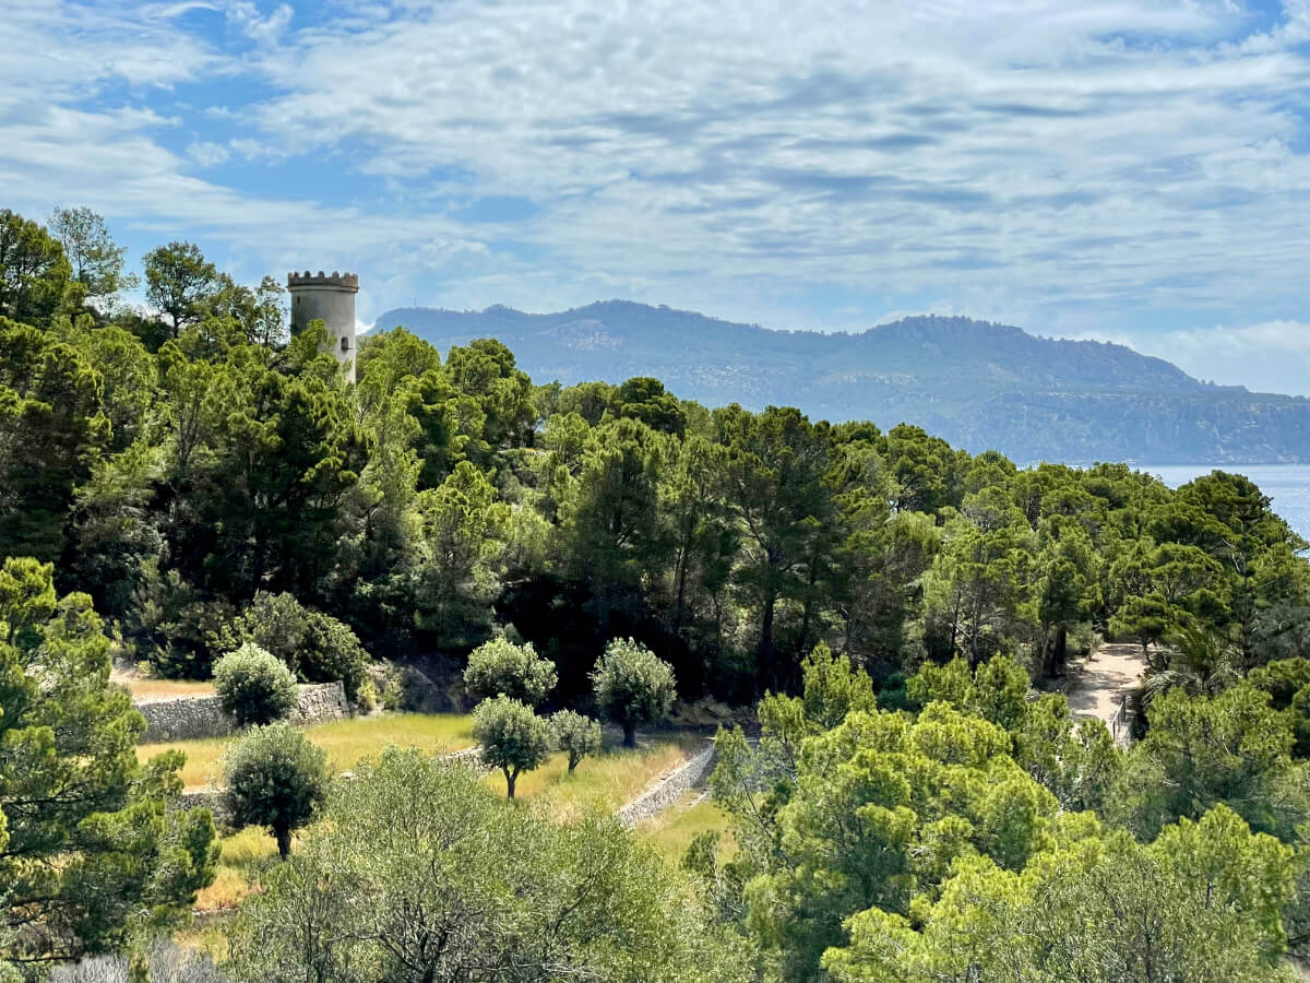
{"type": "Polygon", "coordinates": [[[1290,983],[1280,907],[1293,852],[1220,806],[1151,844],[1074,817],[1058,848],[1022,872],[956,864],[941,896],[904,915],[850,919],[823,963],[840,983],[986,979],[1186,979],[1290,983]]]}

